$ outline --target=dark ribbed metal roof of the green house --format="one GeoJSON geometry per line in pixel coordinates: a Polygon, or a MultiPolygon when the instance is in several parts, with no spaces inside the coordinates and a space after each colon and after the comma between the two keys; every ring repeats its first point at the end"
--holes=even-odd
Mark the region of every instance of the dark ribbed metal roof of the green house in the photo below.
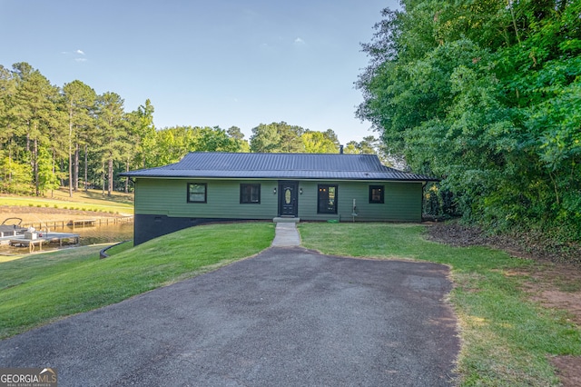
{"type": "Polygon", "coordinates": [[[182,161],[121,174],[133,178],[272,178],[434,181],[389,168],[375,154],[232,154],[192,152],[182,161]]]}

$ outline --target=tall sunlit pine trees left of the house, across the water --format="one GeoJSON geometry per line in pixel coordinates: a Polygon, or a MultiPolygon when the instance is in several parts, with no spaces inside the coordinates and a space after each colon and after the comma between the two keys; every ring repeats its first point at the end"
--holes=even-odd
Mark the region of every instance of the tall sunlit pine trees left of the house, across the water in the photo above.
{"type": "Polygon", "coordinates": [[[153,105],[147,100],[134,115],[117,94],[97,98],[78,80],[59,89],[26,63],[0,66],[0,191],[38,195],[68,185],[72,194],[84,150],[85,188],[99,182],[111,193],[123,167],[155,156],[153,105]]]}

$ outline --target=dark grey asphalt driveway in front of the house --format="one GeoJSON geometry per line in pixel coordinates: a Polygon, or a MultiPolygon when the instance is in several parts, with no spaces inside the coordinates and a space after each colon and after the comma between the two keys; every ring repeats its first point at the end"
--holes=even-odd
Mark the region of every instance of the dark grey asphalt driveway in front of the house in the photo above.
{"type": "Polygon", "coordinates": [[[447,275],[271,248],[2,341],[0,367],[53,367],[59,386],[449,385],[447,275]]]}

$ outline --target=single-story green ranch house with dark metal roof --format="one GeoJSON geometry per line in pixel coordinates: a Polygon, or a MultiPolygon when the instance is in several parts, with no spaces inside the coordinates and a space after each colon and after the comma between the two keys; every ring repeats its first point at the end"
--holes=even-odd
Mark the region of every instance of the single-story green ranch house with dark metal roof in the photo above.
{"type": "Polygon", "coordinates": [[[434,180],[375,154],[193,152],[121,175],[135,184],[135,244],[232,220],[420,222],[423,185],[434,180]]]}

